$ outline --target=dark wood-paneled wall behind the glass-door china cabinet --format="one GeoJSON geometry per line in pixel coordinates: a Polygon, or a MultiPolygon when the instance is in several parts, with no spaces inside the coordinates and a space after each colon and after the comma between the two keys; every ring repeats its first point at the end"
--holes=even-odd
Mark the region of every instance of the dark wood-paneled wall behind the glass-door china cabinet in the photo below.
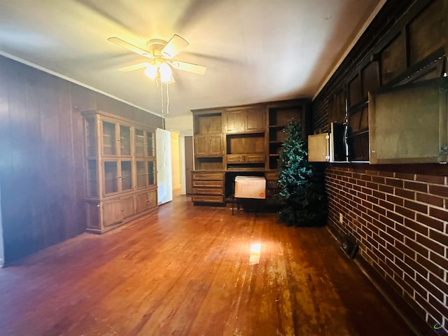
{"type": "Polygon", "coordinates": [[[6,264],[85,230],[80,111],[161,119],[0,56],[0,183],[6,264]]]}

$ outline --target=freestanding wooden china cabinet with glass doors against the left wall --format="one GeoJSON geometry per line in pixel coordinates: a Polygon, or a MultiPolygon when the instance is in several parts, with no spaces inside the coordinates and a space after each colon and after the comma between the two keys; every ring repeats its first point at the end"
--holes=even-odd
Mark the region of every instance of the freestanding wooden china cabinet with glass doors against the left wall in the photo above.
{"type": "Polygon", "coordinates": [[[87,231],[103,233],[157,208],[155,132],[102,111],[83,112],[87,231]]]}

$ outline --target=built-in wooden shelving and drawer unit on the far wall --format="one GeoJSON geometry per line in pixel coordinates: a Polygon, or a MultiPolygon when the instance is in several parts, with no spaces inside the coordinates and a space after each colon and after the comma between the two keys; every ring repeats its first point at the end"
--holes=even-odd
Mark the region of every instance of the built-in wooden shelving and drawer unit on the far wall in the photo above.
{"type": "Polygon", "coordinates": [[[195,204],[225,204],[235,176],[265,176],[274,195],[283,128],[292,120],[309,132],[309,99],[193,110],[195,204]]]}

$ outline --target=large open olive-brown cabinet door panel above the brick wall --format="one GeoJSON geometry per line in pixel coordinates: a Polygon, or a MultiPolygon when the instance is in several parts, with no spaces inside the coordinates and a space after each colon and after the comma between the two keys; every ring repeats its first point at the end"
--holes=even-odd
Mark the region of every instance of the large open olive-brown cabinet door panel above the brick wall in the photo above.
{"type": "Polygon", "coordinates": [[[370,163],[447,162],[448,80],[371,94],[370,163]]]}

